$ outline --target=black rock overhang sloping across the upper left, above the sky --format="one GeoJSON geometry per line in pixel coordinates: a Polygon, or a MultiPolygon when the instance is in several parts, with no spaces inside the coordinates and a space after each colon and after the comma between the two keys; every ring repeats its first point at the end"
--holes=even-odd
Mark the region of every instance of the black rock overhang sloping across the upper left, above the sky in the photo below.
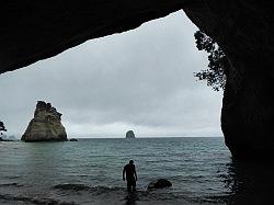
{"type": "Polygon", "coordinates": [[[0,73],[55,56],[88,39],[136,29],[187,0],[0,2],[0,73]]]}

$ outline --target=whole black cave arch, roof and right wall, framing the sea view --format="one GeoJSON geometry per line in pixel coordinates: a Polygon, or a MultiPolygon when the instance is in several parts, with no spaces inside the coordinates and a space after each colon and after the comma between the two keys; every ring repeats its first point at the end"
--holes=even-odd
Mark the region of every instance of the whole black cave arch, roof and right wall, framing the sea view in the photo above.
{"type": "Polygon", "coordinates": [[[221,129],[233,158],[274,158],[274,14],[270,1],[18,0],[0,5],[0,73],[183,9],[229,60],[221,129]]]}

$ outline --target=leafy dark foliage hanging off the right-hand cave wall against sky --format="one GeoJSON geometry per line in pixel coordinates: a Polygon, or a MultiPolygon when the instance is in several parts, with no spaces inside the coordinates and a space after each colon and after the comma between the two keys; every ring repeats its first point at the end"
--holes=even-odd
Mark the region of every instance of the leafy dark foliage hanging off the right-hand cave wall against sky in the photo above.
{"type": "Polygon", "coordinates": [[[208,56],[208,68],[194,72],[198,80],[206,80],[207,86],[213,87],[213,90],[224,90],[226,86],[226,71],[228,71],[228,60],[221,48],[207,36],[203,31],[197,31],[194,34],[196,47],[198,50],[205,50],[208,56]]]}

